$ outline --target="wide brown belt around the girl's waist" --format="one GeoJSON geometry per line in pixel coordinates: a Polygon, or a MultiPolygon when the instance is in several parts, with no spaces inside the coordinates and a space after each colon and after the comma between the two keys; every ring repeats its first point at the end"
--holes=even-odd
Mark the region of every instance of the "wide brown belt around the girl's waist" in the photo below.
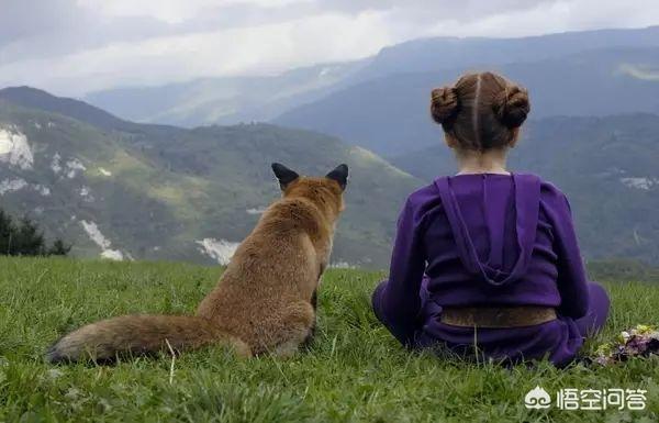
{"type": "Polygon", "coordinates": [[[556,309],[546,305],[446,307],[439,321],[463,327],[521,327],[556,320],[556,309]]]}

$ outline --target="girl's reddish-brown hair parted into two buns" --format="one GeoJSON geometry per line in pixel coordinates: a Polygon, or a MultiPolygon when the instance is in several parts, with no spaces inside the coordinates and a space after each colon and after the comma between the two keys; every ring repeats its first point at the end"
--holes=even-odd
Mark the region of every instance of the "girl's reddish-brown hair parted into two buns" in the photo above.
{"type": "Polygon", "coordinates": [[[433,119],[462,149],[509,145],[529,111],[523,87],[489,71],[465,75],[455,86],[432,91],[433,119]]]}

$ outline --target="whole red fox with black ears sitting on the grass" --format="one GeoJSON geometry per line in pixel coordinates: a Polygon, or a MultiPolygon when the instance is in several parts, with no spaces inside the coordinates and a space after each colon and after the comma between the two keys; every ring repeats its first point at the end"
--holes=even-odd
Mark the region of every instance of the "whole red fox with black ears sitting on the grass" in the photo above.
{"type": "Polygon", "coordinates": [[[241,356],[294,354],[313,336],[315,296],[344,210],[348,167],[302,177],[272,164],[282,198],[261,215],[194,316],[123,315],[65,335],[46,353],[49,363],[112,361],[227,343],[241,356]]]}

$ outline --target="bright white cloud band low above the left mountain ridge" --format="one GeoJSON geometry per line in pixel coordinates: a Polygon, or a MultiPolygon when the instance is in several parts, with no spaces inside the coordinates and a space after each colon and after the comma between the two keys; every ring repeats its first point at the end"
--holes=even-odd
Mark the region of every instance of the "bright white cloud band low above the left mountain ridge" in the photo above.
{"type": "Polygon", "coordinates": [[[23,80],[79,94],[113,85],[267,75],[312,63],[356,59],[394,42],[381,18],[379,12],[355,18],[325,13],[283,23],[114,43],[57,59],[7,65],[0,69],[0,85],[23,80]],[[48,71],[41,71],[44,68],[48,71]]]}

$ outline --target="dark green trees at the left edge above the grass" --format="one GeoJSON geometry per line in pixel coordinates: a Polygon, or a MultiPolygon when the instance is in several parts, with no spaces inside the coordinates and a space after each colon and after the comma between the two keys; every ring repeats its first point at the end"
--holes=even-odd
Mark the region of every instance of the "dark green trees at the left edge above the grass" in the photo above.
{"type": "Polygon", "coordinates": [[[71,249],[62,240],[51,247],[36,223],[27,218],[14,223],[13,219],[0,210],[0,255],[8,256],[66,256],[71,249]]]}

